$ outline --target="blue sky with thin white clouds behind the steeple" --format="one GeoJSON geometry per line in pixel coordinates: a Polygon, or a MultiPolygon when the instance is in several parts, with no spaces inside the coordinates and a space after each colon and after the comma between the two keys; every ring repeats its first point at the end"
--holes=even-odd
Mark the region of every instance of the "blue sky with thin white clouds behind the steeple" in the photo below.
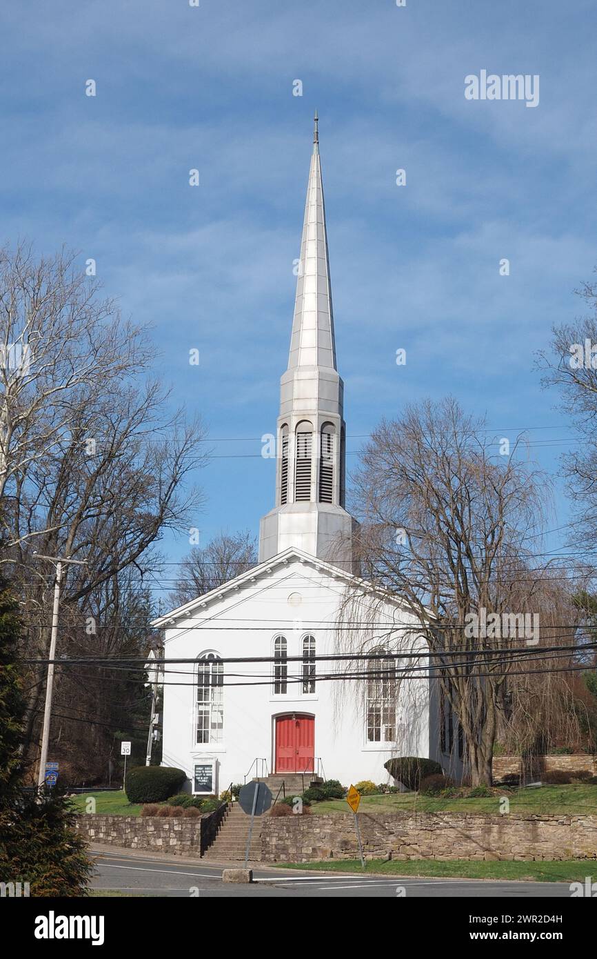
{"type": "Polygon", "coordinates": [[[152,324],[175,401],[210,430],[203,542],[257,532],[273,504],[259,437],[287,364],[315,106],[349,469],[381,415],[448,392],[499,435],[528,428],[558,468],[573,431],[533,355],[582,312],[597,263],[591,0],[53,0],[4,5],[0,27],[2,239],[95,258],[152,324]],[[466,100],[481,69],[539,74],[540,104],[466,100]]]}

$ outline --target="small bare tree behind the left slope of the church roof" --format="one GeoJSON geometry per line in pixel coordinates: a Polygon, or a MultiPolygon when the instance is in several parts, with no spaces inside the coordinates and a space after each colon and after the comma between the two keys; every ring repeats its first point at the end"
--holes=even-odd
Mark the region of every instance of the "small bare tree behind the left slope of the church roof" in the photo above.
{"type": "Polygon", "coordinates": [[[195,547],[182,560],[172,602],[182,606],[246,573],[256,563],[257,543],[248,529],[239,533],[220,532],[205,549],[195,547]]]}

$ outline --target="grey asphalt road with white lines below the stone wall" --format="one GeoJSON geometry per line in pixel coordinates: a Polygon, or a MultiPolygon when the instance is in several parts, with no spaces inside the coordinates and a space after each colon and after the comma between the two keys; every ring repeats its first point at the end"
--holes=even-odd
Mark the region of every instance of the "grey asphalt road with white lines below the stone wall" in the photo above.
{"type": "MultiPolygon", "coordinates": [[[[221,866],[179,858],[144,858],[141,854],[95,852],[94,889],[118,890],[132,896],[172,897],[392,897],[492,899],[570,898],[567,882],[506,882],[476,879],[401,878],[300,873],[254,869],[254,881],[236,885],[221,881],[221,866]],[[402,892],[402,889],[404,890],[402,892]]],[[[238,863],[236,865],[241,865],[238,863]]]]}

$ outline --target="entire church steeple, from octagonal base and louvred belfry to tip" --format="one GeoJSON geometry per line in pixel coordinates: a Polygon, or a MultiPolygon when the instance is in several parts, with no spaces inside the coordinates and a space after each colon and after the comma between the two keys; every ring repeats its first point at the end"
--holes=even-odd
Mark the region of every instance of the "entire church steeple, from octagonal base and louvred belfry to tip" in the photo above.
{"type": "Polygon", "coordinates": [[[287,371],[280,381],[276,505],[262,520],[261,560],[296,546],[351,568],[355,521],[344,509],[343,390],[335,360],[315,113],[290,352],[287,371]]]}

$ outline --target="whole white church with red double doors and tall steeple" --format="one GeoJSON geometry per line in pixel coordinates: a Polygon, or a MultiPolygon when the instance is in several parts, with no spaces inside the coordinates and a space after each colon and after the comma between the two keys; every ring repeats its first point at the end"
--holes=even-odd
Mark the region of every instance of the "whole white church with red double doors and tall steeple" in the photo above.
{"type": "Polygon", "coordinates": [[[166,661],[188,661],[166,667],[162,763],[197,794],[254,778],[391,783],[393,756],[448,767],[417,620],[355,574],[317,118],[277,449],[259,565],[153,623],[166,661]],[[378,658],[338,658],[349,645],[378,658]]]}

